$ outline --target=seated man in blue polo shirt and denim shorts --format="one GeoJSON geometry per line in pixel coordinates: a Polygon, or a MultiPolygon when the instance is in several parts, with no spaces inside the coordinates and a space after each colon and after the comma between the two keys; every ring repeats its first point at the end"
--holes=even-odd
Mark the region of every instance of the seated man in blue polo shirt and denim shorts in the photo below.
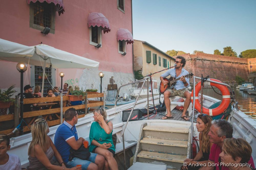
{"type": "Polygon", "coordinates": [[[74,157],[71,161],[68,160],[70,155],[70,148],[78,150],[84,139],[79,138],[77,135],[77,129],[75,124],[78,121],[78,113],[75,108],[69,108],[64,114],[65,121],[61,124],[54,137],[54,144],[60,153],[63,161],[66,163],[66,167],[72,168],[76,165],[82,165],[83,170],[103,169],[105,158],[102,155],[91,153],[88,160],[82,160],[78,157],[74,157]]]}

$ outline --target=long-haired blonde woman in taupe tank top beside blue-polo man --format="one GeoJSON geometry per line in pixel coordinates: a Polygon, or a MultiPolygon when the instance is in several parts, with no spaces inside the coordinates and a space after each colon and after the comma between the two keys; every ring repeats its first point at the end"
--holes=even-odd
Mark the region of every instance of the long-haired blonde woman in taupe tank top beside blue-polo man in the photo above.
{"type": "Polygon", "coordinates": [[[35,120],[31,126],[32,141],[28,148],[28,170],[75,170],[81,167],[67,168],[59,152],[53,144],[51,138],[47,135],[49,127],[44,118],[35,120]],[[53,159],[55,156],[58,160],[53,159]],[[61,166],[60,166],[61,165],[61,166]]]}

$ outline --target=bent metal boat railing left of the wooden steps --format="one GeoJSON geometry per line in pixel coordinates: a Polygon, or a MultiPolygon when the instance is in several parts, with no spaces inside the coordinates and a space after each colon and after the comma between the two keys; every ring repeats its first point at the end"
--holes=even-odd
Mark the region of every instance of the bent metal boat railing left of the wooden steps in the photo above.
{"type": "MultiPolygon", "coordinates": [[[[141,81],[143,81],[142,87],[144,87],[144,84],[145,84],[146,80],[147,80],[147,103],[148,103],[148,79],[149,79],[149,78],[145,78],[145,79],[142,79],[142,80],[134,81],[134,82],[131,82],[131,83],[128,83],[128,84],[124,84],[124,85],[120,86],[120,87],[118,88],[117,95],[116,95],[115,107],[116,107],[116,104],[117,104],[119,91],[120,91],[120,89],[121,89],[122,87],[124,87],[124,86],[129,86],[129,85],[131,85],[131,84],[134,84],[134,83],[137,83],[137,82],[141,82],[141,81]]],[[[125,170],[126,170],[126,159],[125,159],[125,146],[124,146],[124,131],[125,131],[126,126],[127,126],[128,122],[129,122],[129,120],[130,120],[130,117],[131,117],[131,115],[132,115],[133,109],[134,109],[134,107],[135,107],[135,105],[136,105],[136,103],[137,103],[137,101],[138,101],[138,98],[139,98],[139,96],[140,96],[140,94],[141,94],[141,91],[142,91],[142,88],[140,89],[140,92],[138,93],[138,96],[137,96],[137,98],[136,98],[136,100],[135,100],[135,102],[134,102],[134,104],[133,104],[133,107],[132,107],[132,110],[131,110],[131,112],[130,112],[130,115],[129,115],[129,117],[128,117],[128,119],[127,119],[125,125],[124,125],[123,131],[122,131],[122,133],[121,133],[121,136],[123,137],[123,153],[124,153],[124,169],[125,169],[125,170]]],[[[149,112],[148,112],[148,105],[147,105],[147,118],[149,119],[148,115],[149,115],[149,112]]]]}

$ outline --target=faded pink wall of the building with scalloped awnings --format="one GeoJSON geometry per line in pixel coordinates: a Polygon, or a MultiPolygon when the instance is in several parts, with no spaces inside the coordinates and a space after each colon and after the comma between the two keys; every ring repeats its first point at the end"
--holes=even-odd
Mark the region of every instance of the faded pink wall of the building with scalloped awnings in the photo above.
{"type": "MultiPolygon", "coordinates": [[[[116,33],[119,28],[132,32],[131,0],[125,0],[125,14],[117,8],[116,0],[63,0],[64,14],[55,15],[55,34],[44,35],[40,30],[29,28],[29,5],[27,0],[2,1],[0,5],[0,38],[8,41],[33,46],[47,44],[76,55],[100,62],[99,70],[120,73],[133,73],[132,44],[126,44],[126,55],[118,53],[116,33]],[[102,48],[89,44],[87,18],[91,12],[102,13],[109,20],[111,31],[103,34],[102,48]],[[125,68],[125,69],[124,69],[125,68]]],[[[12,84],[19,87],[19,73],[16,63],[0,61],[0,88],[12,84]],[[8,70],[4,71],[3,70],[8,70]],[[9,77],[12,77],[11,81],[9,77]]],[[[28,70],[29,71],[29,70],[28,70]]],[[[27,71],[27,72],[28,72],[27,71]]],[[[82,70],[56,69],[56,85],[60,86],[59,72],[65,72],[65,80],[80,78],[82,70]]],[[[30,72],[28,73],[30,74],[30,72]]],[[[25,78],[25,77],[24,77],[25,78]]],[[[30,80],[28,79],[28,83],[30,80]]],[[[25,83],[27,83],[25,82],[25,83]]],[[[24,84],[25,84],[24,83],[24,84]]]]}

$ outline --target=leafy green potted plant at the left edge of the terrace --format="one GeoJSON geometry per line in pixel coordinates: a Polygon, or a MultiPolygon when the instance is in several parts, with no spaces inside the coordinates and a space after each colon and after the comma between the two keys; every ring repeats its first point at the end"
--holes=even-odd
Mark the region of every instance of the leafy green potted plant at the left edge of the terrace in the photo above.
{"type": "Polygon", "coordinates": [[[4,90],[4,92],[0,89],[0,109],[2,108],[9,108],[11,102],[15,102],[15,99],[11,98],[11,96],[17,92],[14,90],[14,85],[9,87],[7,90],[4,90]]]}

